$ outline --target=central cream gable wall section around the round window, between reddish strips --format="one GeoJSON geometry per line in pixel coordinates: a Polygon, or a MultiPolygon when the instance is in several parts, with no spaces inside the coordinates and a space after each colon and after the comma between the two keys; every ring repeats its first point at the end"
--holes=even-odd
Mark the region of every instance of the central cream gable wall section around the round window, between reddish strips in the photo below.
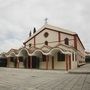
{"type": "Polygon", "coordinates": [[[57,45],[57,43],[58,43],[58,42],[55,42],[55,41],[58,41],[58,32],[45,29],[44,31],[42,31],[35,37],[35,40],[36,40],[36,47],[38,47],[38,48],[45,45],[44,44],[45,41],[52,42],[52,43],[48,43],[48,46],[53,47],[53,46],[57,45]],[[44,37],[45,32],[48,32],[48,34],[49,34],[47,38],[44,37]],[[40,44],[40,43],[42,43],[42,44],[40,44]]]}

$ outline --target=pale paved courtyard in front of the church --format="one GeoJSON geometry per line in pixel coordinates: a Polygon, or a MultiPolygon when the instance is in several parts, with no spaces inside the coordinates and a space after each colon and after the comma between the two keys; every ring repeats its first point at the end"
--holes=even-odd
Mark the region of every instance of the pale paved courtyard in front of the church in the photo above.
{"type": "Polygon", "coordinates": [[[90,74],[0,68],[0,90],[90,90],[90,74]]]}

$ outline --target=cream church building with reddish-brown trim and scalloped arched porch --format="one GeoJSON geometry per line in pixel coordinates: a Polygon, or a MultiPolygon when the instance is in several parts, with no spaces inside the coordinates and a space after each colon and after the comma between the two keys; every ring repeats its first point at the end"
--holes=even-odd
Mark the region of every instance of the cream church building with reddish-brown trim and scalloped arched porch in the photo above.
{"type": "Polygon", "coordinates": [[[19,50],[7,53],[7,67],[70,70],[85,64],[85,48],[77,33],[43,25],[19,50]]]}

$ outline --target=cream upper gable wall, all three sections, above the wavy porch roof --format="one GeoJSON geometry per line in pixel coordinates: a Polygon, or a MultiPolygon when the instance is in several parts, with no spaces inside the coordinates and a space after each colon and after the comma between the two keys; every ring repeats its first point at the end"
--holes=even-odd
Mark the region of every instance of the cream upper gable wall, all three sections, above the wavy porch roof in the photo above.
{"type": "MultiPolygon", "coordinates": [[[[69,35],[69,34],[60,33],[61,44],[64,44],[65,38],[68,38],[69,45],[74,47],[74,36],[69,35]]],[[[58,42],[59,41],[58,32],[45,29],[35,36],[36,47],[41,48],[43,45],[45,45],[45,41],[49,42],[48,46],[51,46],[51,47],[56,46],[59,43],[58,42]],[[45,32],[48,32],[48,34],[49,34],[47,38],[44,37],[45,32]]],[[[29,44],[34,45],[34,37],[26,43],[27,48],[29,48],[29,44]]]]}

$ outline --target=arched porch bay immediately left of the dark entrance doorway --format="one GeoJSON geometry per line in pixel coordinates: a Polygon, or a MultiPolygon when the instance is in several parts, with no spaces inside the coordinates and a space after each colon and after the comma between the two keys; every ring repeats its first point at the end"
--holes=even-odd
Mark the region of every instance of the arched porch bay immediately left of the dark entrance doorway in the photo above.
{"type": "Polygon", "coordinates": [[[17,63],[19,68],[28,68],[28,50],[23,48],[19,51],[17,56],[17,63]]]}

